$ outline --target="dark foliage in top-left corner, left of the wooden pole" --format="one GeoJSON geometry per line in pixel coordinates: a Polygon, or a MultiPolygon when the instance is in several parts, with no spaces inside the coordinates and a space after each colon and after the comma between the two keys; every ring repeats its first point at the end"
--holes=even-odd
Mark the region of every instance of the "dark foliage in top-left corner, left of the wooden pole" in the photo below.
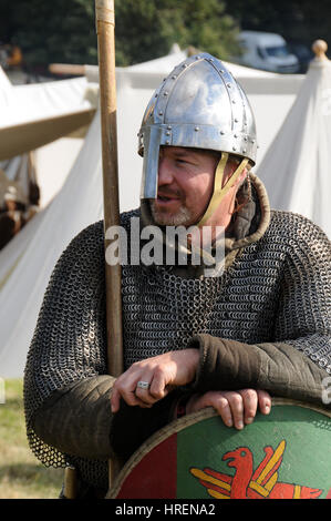
{"type": "MultiPolygon", "coordinates": [[[[1,2],[11,27],[7,37],[20,45],[28,67],[97,62],[93,0],[1,2]]],[[[0,22],[3,33],[2,25],[0,22]]]]}

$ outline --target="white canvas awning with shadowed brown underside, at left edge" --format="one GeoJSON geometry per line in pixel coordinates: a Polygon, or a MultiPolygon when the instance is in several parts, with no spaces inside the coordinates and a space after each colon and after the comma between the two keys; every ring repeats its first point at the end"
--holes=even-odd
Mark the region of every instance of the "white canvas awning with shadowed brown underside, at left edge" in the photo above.
{"type": "Polygon", "coordinates": [[[95,113],[85,78],[8,85],[2,72],[0,81],[0,161],[75,131],[95,113]]]}

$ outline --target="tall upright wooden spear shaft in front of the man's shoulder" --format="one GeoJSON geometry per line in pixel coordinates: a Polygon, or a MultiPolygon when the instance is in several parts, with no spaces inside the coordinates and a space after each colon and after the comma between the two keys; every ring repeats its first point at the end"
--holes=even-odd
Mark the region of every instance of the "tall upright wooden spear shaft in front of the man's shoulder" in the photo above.
{"type": "MultiPolygon", "coordinates": [[[[101,104],[104,231],[106,232],[110,226],[120,225],[114,0],[95,0],[95,22],[101,104]]],[[[107,369],[108,374],[115,377],[123,372],[121,280],[120,263],[114,266],[105,263],[107,369]]],[[[110,461],[110,483],[118,470],[118,461],[110,461]]]]}

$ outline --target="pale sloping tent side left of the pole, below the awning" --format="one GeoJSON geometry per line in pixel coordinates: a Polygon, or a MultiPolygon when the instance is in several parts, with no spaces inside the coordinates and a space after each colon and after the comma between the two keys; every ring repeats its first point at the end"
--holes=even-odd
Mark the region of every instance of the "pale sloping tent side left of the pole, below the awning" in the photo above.
{"type": "Polygon", "coordinates": [[[95,116],[62,190],[0,253],[0,376],[23,372],[43,294],[61,252],[103,216],[100,121],[95,116]]]}

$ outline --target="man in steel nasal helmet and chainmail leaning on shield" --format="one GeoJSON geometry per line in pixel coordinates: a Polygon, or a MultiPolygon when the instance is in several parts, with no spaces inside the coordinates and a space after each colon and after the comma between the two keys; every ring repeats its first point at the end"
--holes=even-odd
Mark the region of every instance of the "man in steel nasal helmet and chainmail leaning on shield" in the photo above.
{"type": "Polygon", "coordinates": [[[270,396],[323,405],[330,243],[308,219],[270,213],[249,172],[256,149],[247,98],[209,54],[179,64],[152,98],[139,132],[141,208],[121,224],[127,237],[134,217],[142,231],[159,225],[176,262],[123,265],[117,379],[106,374],[102,223],[61,256],[28,357],[25,413],[32,450],[45,464],[74,464],[81,497],[105,493],[111,456],[126,460],[185,413],[214,407],[242,429],[258,408],[268,413],[270,396]],[[186,265],[183,244],[166,235],[179,225],[195,226],[186,265]],[[206,272],[206,229],[215,276],[206,272]]]}

